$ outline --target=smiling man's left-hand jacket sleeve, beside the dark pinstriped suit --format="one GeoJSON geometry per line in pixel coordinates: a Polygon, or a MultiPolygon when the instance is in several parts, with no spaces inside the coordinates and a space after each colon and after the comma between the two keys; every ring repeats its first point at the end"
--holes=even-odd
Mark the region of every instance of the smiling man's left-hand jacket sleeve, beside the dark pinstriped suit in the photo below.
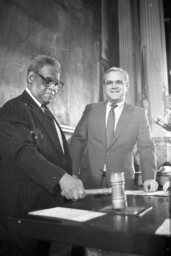
{"type": "Polygon", "coordinates": [[[90,111],[90,105],[87,105],[83,115],[78,122],[74,134],[71,137],[69,144],[69,150],[72,160],[73,174],[79,174],[80,164],[85,153],[87,140],[88,140],[88,115],[90,111]]]}

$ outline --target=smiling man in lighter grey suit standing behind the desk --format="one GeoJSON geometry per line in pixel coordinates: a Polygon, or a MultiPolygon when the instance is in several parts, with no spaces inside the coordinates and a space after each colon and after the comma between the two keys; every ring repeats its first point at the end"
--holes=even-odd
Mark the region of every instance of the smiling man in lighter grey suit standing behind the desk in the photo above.
{"type": "Polygon", "coordinates": [[[84,187],[95,188],[110,186],[110,173],[123,171],[126,188],[133,188],[133,149],[137,144],[144,189],[155,191],[156,164],[150,127],[145,110],[126,102],[129,76],[123,69],[110,68],[104,74],[103,84],[106,101],[86,106],[71,138],[73,172],[82,179],[84,187]]]}

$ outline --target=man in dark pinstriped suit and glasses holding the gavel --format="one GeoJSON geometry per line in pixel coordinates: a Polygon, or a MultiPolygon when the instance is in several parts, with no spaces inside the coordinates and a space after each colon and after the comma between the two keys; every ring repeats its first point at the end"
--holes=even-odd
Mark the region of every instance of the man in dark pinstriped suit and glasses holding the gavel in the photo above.
{"type": "MultiPolygon", "coordinates": [[[[47,108],[63,86],[60,74],[56,59],[37,56],[27,71],[26,90],[0,110],[0,223],[4,231],[8,216],[63,205],[64,197],[84,197],[81,180],[72,176],[65,136],[47,108]]],[[[4,255],[36,255],[25,240],[7,234],[5,241],[7,251],[12,249],[4,255]]]]}

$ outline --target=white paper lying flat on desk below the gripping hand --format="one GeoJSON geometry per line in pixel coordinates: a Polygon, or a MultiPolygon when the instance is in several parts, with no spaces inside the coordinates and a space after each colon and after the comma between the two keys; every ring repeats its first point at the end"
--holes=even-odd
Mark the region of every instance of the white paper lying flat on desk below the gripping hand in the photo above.
{"type": "Polygon", "coordinates": [[[65,208],[65,207],[55,207],[50,209],[29,212],[29,214],[35,215],[35,216],[48,217],[48,218],[50,217],[50,218],[59,218],[59,219],[65,219],[65,220],[84,222],[84,221],[88,221],[88,220],[106,215],[107,213],[79,210],[79,209],[65,208]]]}

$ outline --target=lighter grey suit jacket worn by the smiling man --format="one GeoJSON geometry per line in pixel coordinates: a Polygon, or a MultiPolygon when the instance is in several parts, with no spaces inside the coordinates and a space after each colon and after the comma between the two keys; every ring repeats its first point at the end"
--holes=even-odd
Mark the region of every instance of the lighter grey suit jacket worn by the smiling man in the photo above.
{"type": "Polygon", "coordinates": [[[156,170],[154,146],[144,109],[125,104],[110,148],[106,145],[105,115],[105,102],[87,105],[71,138],[73,171],[83,180],[85,188],[100,185],[105,163],[108,183],[110,172],[124,171],[125,178],[132,179],[136,143],[143,179],[153,179],[156,170]]]}

